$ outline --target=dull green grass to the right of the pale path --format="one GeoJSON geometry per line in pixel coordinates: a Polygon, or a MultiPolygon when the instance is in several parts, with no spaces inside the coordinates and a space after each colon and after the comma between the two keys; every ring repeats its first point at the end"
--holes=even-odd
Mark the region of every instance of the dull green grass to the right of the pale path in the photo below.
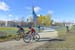
{"type": "Polygon", "coordinates": [[[36,48],[35,50],[75,50],[75,28],[66,32],[65,28],[57,30],[59,38],[50,40],[48,43],[36,48]]]}

